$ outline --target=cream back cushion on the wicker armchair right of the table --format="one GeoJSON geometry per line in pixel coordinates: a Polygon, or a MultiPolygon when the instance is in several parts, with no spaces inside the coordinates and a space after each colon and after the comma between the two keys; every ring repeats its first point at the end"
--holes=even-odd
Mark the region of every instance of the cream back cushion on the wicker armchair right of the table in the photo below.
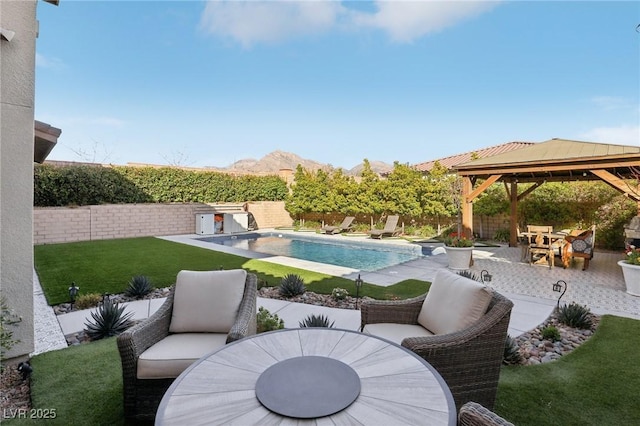
{"type": "Polygon", "coordinates": [[[434,334],[462,330],[484,315],[491,297],[491,289],[484,284],[441,269],[431,283],[418,324],[434,334]]]}

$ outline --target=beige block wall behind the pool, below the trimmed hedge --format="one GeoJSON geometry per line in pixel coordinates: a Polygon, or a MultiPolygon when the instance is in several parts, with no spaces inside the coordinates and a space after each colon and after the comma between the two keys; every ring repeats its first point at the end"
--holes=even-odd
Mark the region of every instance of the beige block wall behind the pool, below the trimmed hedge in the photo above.
{"type": "MultiPolygon", "coordinates": [[[[293,224],[282,201],[250,202],[246,208],[259,228],[293,224]]],[[[194,234],[196,215],[213,212],[213,206],[200,203],[34,207],[33,243],[194,234]]]]}

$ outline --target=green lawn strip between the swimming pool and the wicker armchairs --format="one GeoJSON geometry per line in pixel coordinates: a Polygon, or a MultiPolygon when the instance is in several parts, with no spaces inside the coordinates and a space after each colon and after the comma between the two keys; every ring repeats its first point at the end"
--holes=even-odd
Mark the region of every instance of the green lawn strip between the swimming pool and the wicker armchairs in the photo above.
{"type": "MultiPolygon", "coordinates": [[[[159,238],[127,238],[48,244],[34,247],[35,268],[50,305],[69,301],[71,282],[80,294],[122,293],[131,277],[146,275],[155,287],[175,283],[182,269],[216,270],[243,268],[258,275],[268,285],[279,285],[283,276],[296,273],[303,277],[307,289],[329,294],[336,287],[355,295],[351,280],[288,266],[248,259],[159,238]]],[[[361,296],[375,299],[406,298],[423,294],[429,283],[407,280],[390,287],[365,283],[361,296]]]]}

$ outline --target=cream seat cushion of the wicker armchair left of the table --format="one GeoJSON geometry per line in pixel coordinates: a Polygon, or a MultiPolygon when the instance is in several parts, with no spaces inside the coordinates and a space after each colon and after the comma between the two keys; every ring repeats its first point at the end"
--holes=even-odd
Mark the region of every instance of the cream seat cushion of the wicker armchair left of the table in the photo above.
{"type": "Polygon", "coordinates": [[[224,333],[170,334],[142,352],[138,379],[172,379],[188,366],[226,344],[224,333]]]}

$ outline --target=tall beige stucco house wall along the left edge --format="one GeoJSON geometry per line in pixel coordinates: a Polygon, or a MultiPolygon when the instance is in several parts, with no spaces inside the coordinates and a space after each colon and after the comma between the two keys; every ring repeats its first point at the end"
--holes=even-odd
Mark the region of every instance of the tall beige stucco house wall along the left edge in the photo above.
{"type": "Polygon", "coordinates": [[[33,140],[36,1],[0,1],[0,294],[22,318],[5,355],[28,355],[33,330],[33,140]]]}

